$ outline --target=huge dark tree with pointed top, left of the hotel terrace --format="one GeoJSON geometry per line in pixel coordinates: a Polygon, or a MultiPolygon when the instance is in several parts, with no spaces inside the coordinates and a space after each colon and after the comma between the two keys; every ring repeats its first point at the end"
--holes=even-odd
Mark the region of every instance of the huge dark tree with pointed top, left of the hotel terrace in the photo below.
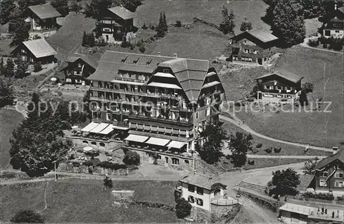
{"type": "MultiPolygon", "coordinates": [[[[34,93],[28,107],[28,118],[13,131],[10,139],[11,164],[30,177],[39,177],[54,169],[53,161],[63,159],[73,146],[63,138],[65,122],[61,114],[49,104],[40,104],[39,95],[34,93]]],[[[56,164],[58,166],[58,164],[56,164]]]]}

